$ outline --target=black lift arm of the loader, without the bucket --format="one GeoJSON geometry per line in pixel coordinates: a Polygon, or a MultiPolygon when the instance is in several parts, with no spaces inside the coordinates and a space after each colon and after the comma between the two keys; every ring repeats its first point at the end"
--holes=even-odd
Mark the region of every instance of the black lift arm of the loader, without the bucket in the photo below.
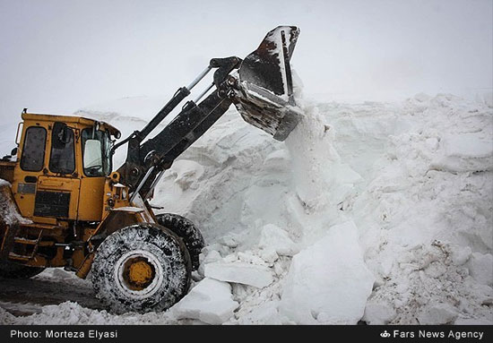
{"type": "Polygon", "coordinates": [[[122,182],[128,185],[131,191],[140,193],[143,199],[147,199],[160,176],[173,161],[228,110],[235,97],[234,87],[235,85],[238,87],[237,80],[229,73],[238,69],[241,62],[242,60],[236,56],[213,58],[209,66],[190,85],[177,90],[173,98],[142,131],[135,131],[124,141],[115,145],[113,150],[128,141],[126,161],[117,171],[120,173],[122,182]],[[160,133],[143,142],[151,131],[183,99],[190,95],[190,91],[212,68],[217,68],[213,83],[195,101],[187,101],[176,118],[160,133]],[[214,86],[216,91],[197,105],[196,102],[214,86]]]}

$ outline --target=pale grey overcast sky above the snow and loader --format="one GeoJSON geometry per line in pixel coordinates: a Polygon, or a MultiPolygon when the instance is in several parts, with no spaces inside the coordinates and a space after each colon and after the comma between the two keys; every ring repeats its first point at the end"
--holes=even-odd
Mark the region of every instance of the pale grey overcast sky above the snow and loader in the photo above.
{"type": "Polygon", "coordinates": [[[168,101],[212,57],[297,25],[307,93],[393,100],[492,87],[491,0],[0,0],[0,117],[168,101]]]}

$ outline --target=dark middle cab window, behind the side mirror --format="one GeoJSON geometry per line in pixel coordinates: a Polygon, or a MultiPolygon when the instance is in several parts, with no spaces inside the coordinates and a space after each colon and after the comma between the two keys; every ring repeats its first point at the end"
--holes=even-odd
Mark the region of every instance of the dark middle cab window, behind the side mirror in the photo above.
{"type": "Polygon", "coordinates": [[[55,123],[51,131],[49,170],[60,174],[75,171],[74,131],[63,123],[55,123]]]}

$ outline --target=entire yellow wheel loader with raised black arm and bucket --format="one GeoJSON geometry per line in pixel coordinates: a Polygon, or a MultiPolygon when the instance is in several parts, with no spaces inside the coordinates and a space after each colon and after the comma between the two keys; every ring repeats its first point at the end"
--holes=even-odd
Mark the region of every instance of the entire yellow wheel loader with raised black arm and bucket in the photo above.
{"type": "Polygon", "coordinates": [[[177,303],[198,268],[203,236],[188,219],[155,214],[154,187],[231,105],[247,123],[286,139],[301,116],[290,70],[298,34],[280,26],[244,59],[212,58],[122,141],[108,123],[24,109],[16,148],[0,161],[0,278],[63,267],[82,279],[91,271],[96,296],[115,313],[177,303]],[[148,138],[212,69],[208,87],[148,138]],[[114,170],[112,156],[124,145],[125,163],[114,170]]]}

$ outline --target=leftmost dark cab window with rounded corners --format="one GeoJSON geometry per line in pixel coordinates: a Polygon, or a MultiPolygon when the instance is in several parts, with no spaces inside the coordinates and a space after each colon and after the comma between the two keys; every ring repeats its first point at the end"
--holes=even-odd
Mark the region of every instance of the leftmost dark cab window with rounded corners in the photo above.
{"type": "Polygon", "coordinates": [[[47,130],[44,127],[27,128],[21,156],[22,170],[40,171],[43,168],[46,141],[47,130]]]}

